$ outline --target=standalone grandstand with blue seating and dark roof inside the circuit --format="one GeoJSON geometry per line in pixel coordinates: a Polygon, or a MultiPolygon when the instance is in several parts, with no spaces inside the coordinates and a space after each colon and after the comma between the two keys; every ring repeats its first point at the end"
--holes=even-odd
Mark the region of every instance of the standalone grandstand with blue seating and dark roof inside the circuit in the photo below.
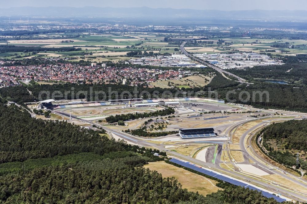
{"type": "Polygon", "coordinates": [[[179,135],[182,139],[198,139],[217,136],[213,128],[179,129],[179,135]]]}

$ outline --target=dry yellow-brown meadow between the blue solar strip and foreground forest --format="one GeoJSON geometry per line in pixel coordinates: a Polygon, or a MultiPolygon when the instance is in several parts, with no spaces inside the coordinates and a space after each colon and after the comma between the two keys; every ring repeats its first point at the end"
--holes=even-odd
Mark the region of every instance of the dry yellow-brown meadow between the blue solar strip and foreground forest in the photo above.
{"type": "Polygon", "coordinates": [[[216,187],[217,182],[215,180],[167,164],[164,161],[151,162],[144,167],[161,173],[163,177],[174,177],[181,183],[183,188],[187,188],[189,191],[198,192],[202,195],[207,195],[220,189],[216,187]]]}

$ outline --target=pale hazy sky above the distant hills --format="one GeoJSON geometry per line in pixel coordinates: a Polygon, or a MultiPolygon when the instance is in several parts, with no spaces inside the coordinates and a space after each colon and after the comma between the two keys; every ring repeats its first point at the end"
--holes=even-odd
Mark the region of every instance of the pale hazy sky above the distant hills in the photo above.
{"type": "MultiPolygon", "coordinates": [[[[307,9],[306,0],[0,0],[0,9],[21,6],[98,6],[98,7],[142,7],[174,9],[216,10],[296,10],[307,9]]],[[[1,15],[1,11],[0,11],[1,15]]]]}

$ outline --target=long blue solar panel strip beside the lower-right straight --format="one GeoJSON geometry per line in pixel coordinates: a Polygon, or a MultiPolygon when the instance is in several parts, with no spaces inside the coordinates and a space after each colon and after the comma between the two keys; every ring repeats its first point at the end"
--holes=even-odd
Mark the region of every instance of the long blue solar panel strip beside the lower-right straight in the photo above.
{"type": "Polygon", "coordinates": [[[262,191],[262,190],[260,190],[260,189],[258,189],[256,187],[250,186],[250,185],[248,185],[246,183],[242,183],[242,182],[237,181],[235,179],[231,179],[231,178],[228,178],[226,176],[214,173],[212,171],[208,171],[206,169],[203,169],[201,167],[196,166],[195,164],[192,164],[192,163],[189,163],[189,162],[180,161],[180,160],[174,159],[174,158],[170,159],[169,161],[171,161],[171,162],[173,162],[175,164],[179,164],[181,166],[193,169],[193,170],[195,170],[197,172],[206,174],[208,176],[212,176],[214,178],[220,179],[220,180],[225,181],[227,183],[231,183],[231,184],[234,184],[236,186],[241,186],[241,187],[244,187],[244,188],[249,188],[250,190],[256,190],[258,192],[261,192],[264,197],[266,197],[266,198],[274,198],[277,202],[284,202],[284,201],[286,201],[286,199],[280,198],[280,197],[278,197],[276,195],[273,195],[271,193],[268,193],[266,191],[262,191]]]}

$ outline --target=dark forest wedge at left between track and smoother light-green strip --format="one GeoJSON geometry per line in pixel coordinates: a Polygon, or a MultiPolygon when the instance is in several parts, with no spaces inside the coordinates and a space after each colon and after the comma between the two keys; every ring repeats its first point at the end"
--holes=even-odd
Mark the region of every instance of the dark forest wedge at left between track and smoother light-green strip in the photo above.
{"type": "Polygon", "coordinates": [[[135,146],[108,140],[94,131],[64,121],[31,118],[14,104],[0,106],[0,162],[54,157],[82,152],[134,151],[135,146]],[[103,148],[102,148],[103,147],[103,148]]]}

